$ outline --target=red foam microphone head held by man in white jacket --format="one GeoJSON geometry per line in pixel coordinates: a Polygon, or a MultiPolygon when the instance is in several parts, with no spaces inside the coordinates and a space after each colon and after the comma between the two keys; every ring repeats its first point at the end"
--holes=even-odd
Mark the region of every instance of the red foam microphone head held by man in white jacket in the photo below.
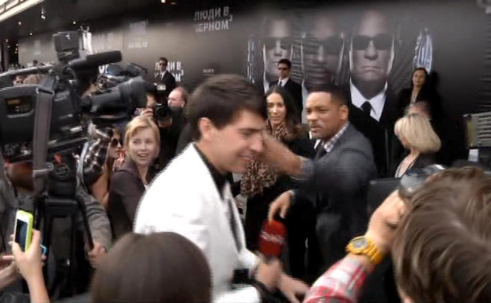
{"type": "Polygon", "coordinates": [[[286,243],[286,227],[279,221],[264,221],[259,236],[259,251],[270,261],[280,258],[283,246],[286,243]]]}

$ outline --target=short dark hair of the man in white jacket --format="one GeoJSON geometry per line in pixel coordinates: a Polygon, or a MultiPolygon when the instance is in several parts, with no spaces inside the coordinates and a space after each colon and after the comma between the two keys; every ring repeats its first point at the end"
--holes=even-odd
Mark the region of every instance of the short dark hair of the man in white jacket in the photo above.
{"type": "Polygon", "coordinates": [[[233,123],[242,110],[261,116],[264,112],[263,101],[255,86],[239,75],[208,78],[194,90],[187,107],[194,140],[201,138],[198,122],[202,118],[210,119],[216,128],[221,129],[233,123]]]}

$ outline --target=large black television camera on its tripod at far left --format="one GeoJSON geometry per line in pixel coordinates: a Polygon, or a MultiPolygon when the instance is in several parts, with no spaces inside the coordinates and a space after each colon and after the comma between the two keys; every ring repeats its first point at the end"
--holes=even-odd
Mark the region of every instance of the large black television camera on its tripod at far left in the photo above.
{"type": "MultiPolygon", "coordinates": [[[[86,141],[89,122],[96,126],[130,120],[145,107],[146,82],[141,75],[84,95],[97,78],[99,66],[121,61],[119,51],[80,57],[80,32],[54,34],[59,62],[54,65],[0,74],[0,169],[8,162],[32,161],[34,226],[42,230],[43,244],[50,247],[54,218],[71,217],[70,257],[65,279],[66,295],[74,292],[74,222],[82,216],[90,249],[94,247],[84,202],[76,195],[76,158],[86,141]],[[43,74],[39,85],[12,86],[18,75],[43,74]]],[[[2,174],[3,176],[4,174],[2,174]]],[[[45,274],[47,272],[45,271],[45,274]]]]}

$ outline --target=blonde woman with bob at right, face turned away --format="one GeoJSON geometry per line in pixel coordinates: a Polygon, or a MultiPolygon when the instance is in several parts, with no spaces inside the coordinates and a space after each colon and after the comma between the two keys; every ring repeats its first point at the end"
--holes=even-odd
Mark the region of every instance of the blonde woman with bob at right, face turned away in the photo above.
{"type": "Polygon", "coordinates": [[[394,132],[406,150],[393,170],[396,178],[435,163],[434,153],[440,150],[441,142],[423,115],[405,115],[395,123],[394,132]]]}

